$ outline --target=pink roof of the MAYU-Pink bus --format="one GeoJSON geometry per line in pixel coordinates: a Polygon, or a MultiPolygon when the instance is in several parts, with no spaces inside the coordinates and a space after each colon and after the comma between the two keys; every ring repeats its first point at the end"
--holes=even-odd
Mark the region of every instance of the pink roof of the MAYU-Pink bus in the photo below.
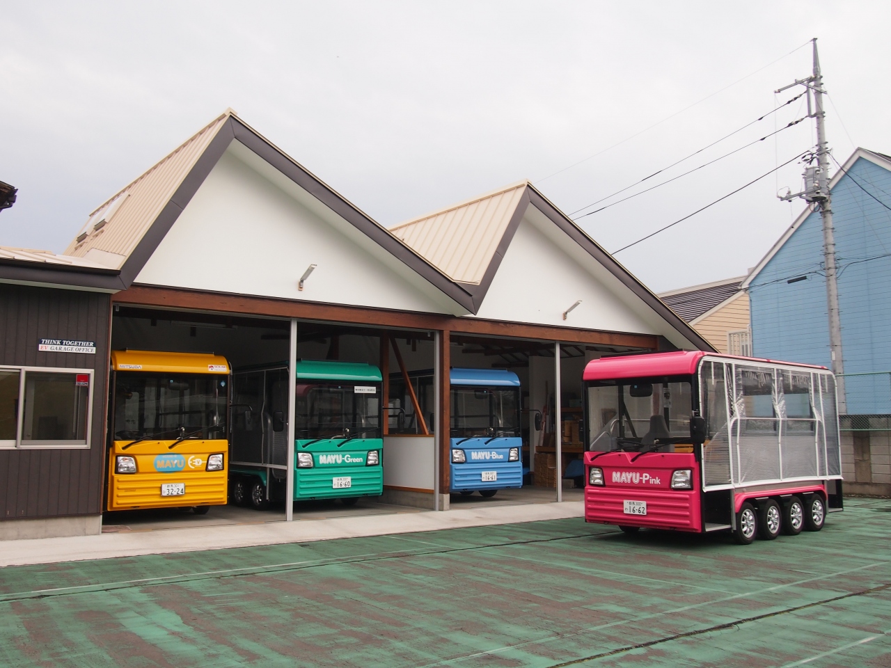
{"type": "Polygon", "coordinates": [[[648,353],[618,355],[592,360],[584,367],[585,380],[610,380],[623,378],[650,378],[653,376],[691,376],[696,373],[699,360],[709,357],[723,357],[740,362],[760,362],[768,364],[789,364],[807,369],[826,370],[824,366],[798,362],[780,362],[757,357],[738,357],[732,354],[706,353],[702,350],[677,350],[671,353],[648,353]]]}

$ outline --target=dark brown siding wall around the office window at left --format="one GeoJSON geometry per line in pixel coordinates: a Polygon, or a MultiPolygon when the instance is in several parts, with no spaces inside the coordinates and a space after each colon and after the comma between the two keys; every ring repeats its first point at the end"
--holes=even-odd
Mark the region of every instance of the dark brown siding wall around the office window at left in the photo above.
{"type": "Polygon", "coordinates": [[[94,369],[90,448],[0,450],[0,520],[102,512],[110,295],[0,284],[0,364],[94,369]],[[41,353],[39,338],[95,341],[96,354],[41,353]]]}

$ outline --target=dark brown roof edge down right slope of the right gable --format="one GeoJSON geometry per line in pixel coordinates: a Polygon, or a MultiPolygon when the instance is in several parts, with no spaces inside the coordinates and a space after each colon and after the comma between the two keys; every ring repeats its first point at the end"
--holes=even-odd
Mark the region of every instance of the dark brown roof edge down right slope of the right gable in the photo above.
{"type": "Polygon", "coordinates": [[[588,255],[606,267],[609,273],[615,276],[626,288],[634,292],[637,297],[640,297],[646,305],[650,306],[653,311],[659,314],[659,316],[674,327],[675,330],[680,331],[685,338],[696,346],[699,346],[699,350],[705,350],[710,353],[718,352],[715,350],[715,347],[708,343],[705,338],[702,338],[696,330],[684,322],[683,318],[678,314],[675,314],[674,311],[666,306],[649,288],[647,288],[641,281],[638,281],[634,277],[634,274],[630,273],[624,266],[620,265],[616,261],[616,258],[612,257],[599,243],[597,243],[597,241],[589,237],[582,228],[573,223],[566,214],[555,207],[541,192],[537,191],[535,186],[531,183],[528,186],[528,193],[530,203],[535,208],[541,211],[545,216],[548,216],[553,224],[556,224],[563,232],[566,232],[572,240],[576,241],[579,246],[584,248],[588,255]]]}

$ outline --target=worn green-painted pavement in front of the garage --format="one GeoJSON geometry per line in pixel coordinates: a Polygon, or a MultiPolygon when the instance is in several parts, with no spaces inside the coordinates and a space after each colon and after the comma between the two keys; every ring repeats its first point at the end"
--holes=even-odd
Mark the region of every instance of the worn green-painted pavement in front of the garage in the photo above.
{"type": "Polygon", "coordinates": [[[570,518],[9,566],[0,664],[888,666],[891,501],[846,506],[744,547],[570,518]]]}

